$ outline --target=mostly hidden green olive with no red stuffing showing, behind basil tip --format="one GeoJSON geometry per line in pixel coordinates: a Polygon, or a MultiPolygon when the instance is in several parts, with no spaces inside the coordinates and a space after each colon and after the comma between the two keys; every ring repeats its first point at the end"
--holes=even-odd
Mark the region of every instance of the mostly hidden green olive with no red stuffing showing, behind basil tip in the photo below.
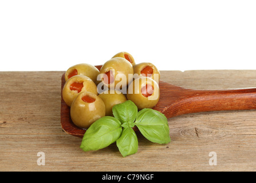
{"type": "Polygon", "coordinates": [[[113,116],[112,108],[116,104],[121,104],[127,101],[123,93],[117,90],[108,90],[99,94],[99,97],[103,100],[106,109],[106,116],[113,116]]]}

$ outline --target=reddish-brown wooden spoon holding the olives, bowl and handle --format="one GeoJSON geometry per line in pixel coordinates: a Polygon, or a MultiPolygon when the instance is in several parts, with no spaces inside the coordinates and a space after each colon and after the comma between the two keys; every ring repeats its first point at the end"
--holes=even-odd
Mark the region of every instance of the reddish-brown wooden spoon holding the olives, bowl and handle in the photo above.
{"type": "MultiPolygon", "coordinates": [[[[100,66],[96,66],[99,70],[100,66]]],[[[65,84],[65,73],[61,78],[61,91],[65,84]]],[[[188,113],[211,112],[221,110],[256,109],[256,88],[238,90],[192,90],[159,81],[160,99],[153,108],[167,118],[188,113]]],[[[62,96],[62,92],[61,92],[62,96]]],[[[73,124],[70,107],[61,97],[61,126],[72,136],[83,137],[85,129],[73,124]]],[[[137,128],[133,128],[135,131],[137,128]]]]}

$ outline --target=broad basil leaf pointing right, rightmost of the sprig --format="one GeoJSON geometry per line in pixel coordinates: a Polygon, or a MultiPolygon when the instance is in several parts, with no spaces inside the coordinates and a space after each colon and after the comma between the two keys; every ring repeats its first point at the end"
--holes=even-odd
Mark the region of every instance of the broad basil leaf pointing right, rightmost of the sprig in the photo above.
{"type": "Polygon", "coordinates": [[[171,141],[167,118],[157,110],[140,110],[135,125],[149,141],[159,144],[168,144],[171,141]]]}

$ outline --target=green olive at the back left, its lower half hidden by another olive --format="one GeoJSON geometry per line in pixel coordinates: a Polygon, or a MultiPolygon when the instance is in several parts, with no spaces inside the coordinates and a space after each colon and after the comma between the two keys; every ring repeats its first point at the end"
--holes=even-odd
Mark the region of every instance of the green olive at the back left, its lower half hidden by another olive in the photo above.
{"type": "Polygon", "coordinates": [[[74,75],[85,75],[92,79],[93,82],[96,82],[98,74],[100,74],[100,71],[95,66],[88,63],[80,63],[66,70],[65,81],[68,81],[74,75]]]}

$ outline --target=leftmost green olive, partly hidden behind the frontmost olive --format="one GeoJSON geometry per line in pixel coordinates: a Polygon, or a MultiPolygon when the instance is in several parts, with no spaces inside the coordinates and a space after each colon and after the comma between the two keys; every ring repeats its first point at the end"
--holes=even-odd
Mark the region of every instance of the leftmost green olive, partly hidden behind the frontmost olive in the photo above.
{"type": "Polygon", "coordinates": [[[74,98],[76,98],[80,92],[98,94],[97,86],[92,79],[85,75],[74,75],[65,82],[62,89],[62,97],[66,105],[71,106],[74,98]]]}

